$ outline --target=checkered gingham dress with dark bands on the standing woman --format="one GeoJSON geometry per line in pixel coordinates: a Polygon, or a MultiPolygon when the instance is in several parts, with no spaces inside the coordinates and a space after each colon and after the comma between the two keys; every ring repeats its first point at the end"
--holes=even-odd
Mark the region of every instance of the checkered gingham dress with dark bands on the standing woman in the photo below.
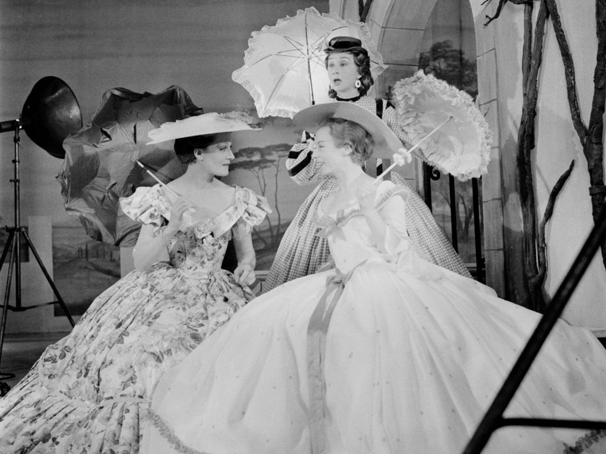
{"type": "MultiPolygon", "coordinates": [[[[375,98],[362,96],[354,101],[355,104],[378,113],[375,98]]],[[[408,145],[407,136],[396,123],[396,111],[393,107],[381,109],[381,116],[385,123],[396,133],[403,143],[408,145]]],[[[282,283],[315,273],[322,266],[330,262],[330,251],[326,239],[316,236],[318,227],[315,224],[318,205],[328,194],[337,189],[333,177],[319,177],[319,166],[311,159],[311,150],[314,148],[313,139],[296,143],[291,148],[286,160],[286,166],[291,178],[299,185],[309,185],[320,181],[316,189],[305,199],[301,208],[284,232],[278,251],[271,265],[263,291],[267,292],[282,283]]],[[[416,251],[431,263],[450,269],[465,277],[471,274],[465,268],[461,257],[454,251],[451,243],[438,226],[430,209],[419,197],[415,189],[398,173],[391,173],[391,181],[397,185],[405,186],[410,192],[406,203],[406,225],[408,235],[415,245],[416,251]]]]}

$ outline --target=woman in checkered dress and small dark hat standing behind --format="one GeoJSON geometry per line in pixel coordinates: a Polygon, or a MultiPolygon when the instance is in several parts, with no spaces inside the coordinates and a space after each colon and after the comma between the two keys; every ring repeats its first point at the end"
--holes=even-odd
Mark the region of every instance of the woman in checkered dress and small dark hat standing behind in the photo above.
{"type": "MultiPolygon", "coordinates": [[[[408,145],[407,134],[399,127],[394,108],[386,100],[366,96],[374,81],[370,73],[370,58],[361,41],[338,36],[330,40],[325,53],[331,85],[328,95],[338,101],[353,102],[376,113],[402,143],[408,145]]],[[[321,200],[335,191],[336,183],[333,177],[322,177],[319,174],[318,165],[311,159],[314,148],[313,137],[304,133],[302,142],[296,143],[288,154],[286,166],[296,183],[320,183],[305,199],[284,232],[264,283],[264,292],[287,281],[313,274],[330,262],[326,239],[316,236],[316,212],[321,200]]],[[[399,174],[392,173],[391,179],[398,185],[406,186],[410,192],[406,205],[408,234],[419,254],[435,265],[471,277],[419,194],[399,174]]]]}

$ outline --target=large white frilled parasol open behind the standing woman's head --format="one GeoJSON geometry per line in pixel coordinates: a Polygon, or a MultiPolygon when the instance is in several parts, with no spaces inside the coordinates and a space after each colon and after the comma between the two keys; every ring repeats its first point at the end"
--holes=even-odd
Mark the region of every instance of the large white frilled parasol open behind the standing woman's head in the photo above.
{"type": "Polygon", "coordinates": [[[279,19],[253,31],[244,54],[244,66],[231,78],[255,100],[259,117],[292,118],[313,104],[330,102],[330,81],[324,65],[325,44],[335,36],[362,41],[370,56],[370,71],[377,77],[385,69],[364,22],[341,19],[336,13],[319,13],[314,7],[294,17],[279,19]]]}

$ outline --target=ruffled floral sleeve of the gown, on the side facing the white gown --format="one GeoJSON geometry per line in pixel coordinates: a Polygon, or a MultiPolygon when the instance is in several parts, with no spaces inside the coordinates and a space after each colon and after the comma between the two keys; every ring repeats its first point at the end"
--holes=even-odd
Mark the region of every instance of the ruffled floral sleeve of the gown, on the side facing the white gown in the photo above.
{"type": "Polygon", "coordinates": [[[216,219],[214,234],[219,236],[233,229],[234,237],[238,239],[240,235],[249,234],[253,227],[261,224],[271,211],[265,197],[236,186],[235,201],[216,219]]]}

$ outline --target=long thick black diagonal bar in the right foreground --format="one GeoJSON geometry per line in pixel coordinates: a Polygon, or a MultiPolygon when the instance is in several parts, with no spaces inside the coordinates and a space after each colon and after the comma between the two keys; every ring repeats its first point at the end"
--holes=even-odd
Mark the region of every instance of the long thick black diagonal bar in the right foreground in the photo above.
{"type": "Polygon", "coordinates": [[[545,339],[547,339],[554,324],[558,321],[562,311],[564,311],[568,299],[570,299],[570,296],[573,294],[574,289],[583,277],[585,270],[587,270],[593,256],[596,254],[596,251],[598,251],[602,242],[604,242],[604,239],[606,239],[606,206],[602,208],[596,225],[591,229],[589,237],[574,260],[570,270],[564,277],[558,291],[556,291],[547,311],[541,317],[539,324],[536,329],[534,329],[524,350],[522,350],[518,361],[516,361],[516,364],[514,364],[507,379],[505,379],[501,390],[499,390],[493,403],[484,415],[484,418],[482,418],[478,429],[476,429],[476,432],[471,437],[463,454],[480,454],[486,446],[488,439],[490,439],[490,435],[499,424],[502,423],[502,415],[505,412],[505,409],[507,409],[507,406],[518,390],[522,380],[524,380],[534,358],[539,353],[545,339]]]}

